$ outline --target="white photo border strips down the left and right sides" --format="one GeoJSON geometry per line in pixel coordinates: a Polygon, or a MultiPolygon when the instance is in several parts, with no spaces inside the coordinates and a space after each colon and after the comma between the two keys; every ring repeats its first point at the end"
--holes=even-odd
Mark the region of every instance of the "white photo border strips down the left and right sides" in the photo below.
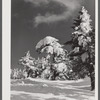
{"type": "MultiPolygon", "coordinates": [[[[98,100],[98,0],[95,0],[95,100],[98,100]]],[[[2,0],[2,100],[10,100],[11,0],[2,0]]]]}

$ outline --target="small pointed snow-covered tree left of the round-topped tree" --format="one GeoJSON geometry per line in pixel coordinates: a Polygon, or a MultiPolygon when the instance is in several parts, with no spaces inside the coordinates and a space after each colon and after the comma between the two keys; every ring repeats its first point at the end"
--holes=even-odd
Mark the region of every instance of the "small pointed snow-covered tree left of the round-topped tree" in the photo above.
{"type": "Polygon", "coordinates": [[[35,58],[30,56],[28,51],[24,57],[22,57],[19,62],[24,66],[25,72],[27,72],[27,77],[36,77],[37,76],[37,67],[35,67],[35,58]]]}

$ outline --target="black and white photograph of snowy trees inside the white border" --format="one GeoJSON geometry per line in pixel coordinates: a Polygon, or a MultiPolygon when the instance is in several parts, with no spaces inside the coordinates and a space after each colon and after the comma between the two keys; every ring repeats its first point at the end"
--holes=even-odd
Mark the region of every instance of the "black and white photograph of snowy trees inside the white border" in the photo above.
{"type": "Polygon", "coordinates": [[[10,100],[96,100],[95,4],[11,0],[10,100]]]}

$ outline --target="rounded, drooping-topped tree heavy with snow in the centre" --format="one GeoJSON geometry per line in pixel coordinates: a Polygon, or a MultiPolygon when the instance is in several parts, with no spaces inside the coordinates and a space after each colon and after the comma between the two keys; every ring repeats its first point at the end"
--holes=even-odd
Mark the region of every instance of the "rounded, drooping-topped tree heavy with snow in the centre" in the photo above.
{"type": "Polygon", "coordinates": [[[48,69],[44,72],[51,72],[50,79],[55,79],[61,72],[67,72],[69,67],[67,50],[63,49],[63,45],[58,43],[58,41],[54,37],[46,36],[36,45],[36,50],[39,53],[45,52],[47,54],[46,60],[50,63],[48,69]]]}

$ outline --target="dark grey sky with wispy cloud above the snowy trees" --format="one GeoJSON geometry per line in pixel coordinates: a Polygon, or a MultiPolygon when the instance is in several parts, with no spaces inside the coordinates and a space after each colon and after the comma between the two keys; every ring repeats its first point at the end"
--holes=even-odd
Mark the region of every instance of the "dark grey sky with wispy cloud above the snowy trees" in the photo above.
{"type": "MultiPolygon", "coordinates": [[[[11,1],[11,68],[28,50],[39,55],[36,44],[46,36],[63,44],[71,39],[73,20],[84,6],[95,25],[95,0],[12,0],[11,1]]],[[[65,46],[69,51],[70,46],[65,46]]]]}

